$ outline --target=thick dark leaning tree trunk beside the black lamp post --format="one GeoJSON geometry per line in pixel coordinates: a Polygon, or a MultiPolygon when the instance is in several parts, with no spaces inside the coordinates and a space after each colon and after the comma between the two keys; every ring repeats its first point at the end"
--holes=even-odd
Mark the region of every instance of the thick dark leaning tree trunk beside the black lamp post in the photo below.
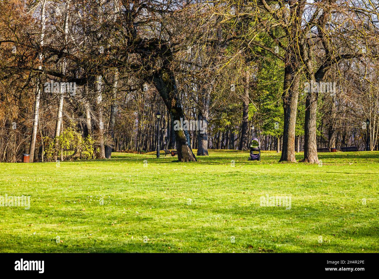
{"type": "MultiPolygon", "coordinates": [[[[185,116],[182,110],[182,104],[179,102],[175,77],[171,71],[166,68],[161,69],[159,73],[153,76],[153,83],[163,98],[164,104],[170,113],[172,123],[174,124],[175,120],[180,122],[180,118],[184,121],[185,116]]],[[[178,129],[177,131],[174,131],[174,134],[176,149],[178,152],[178,161],[196,161],[196,156],[191,149],[191,139],[188,131],[178,129]]]]}

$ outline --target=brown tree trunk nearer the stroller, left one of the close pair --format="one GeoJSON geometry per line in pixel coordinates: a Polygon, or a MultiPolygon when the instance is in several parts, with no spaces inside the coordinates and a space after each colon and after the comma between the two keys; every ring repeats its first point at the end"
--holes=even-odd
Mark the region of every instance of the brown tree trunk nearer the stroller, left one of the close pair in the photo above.
{"type": "Polygon", "coordinates": [[[289,61],[290,64],[284,69],[283,85],[283,110],[284,110],[284,128],[282,139],[282,156],[280,162],[296,162],[295,158],[295,126],[296,113],[298,109],[299,82],[300,74],[295,61],[289,61]]]}

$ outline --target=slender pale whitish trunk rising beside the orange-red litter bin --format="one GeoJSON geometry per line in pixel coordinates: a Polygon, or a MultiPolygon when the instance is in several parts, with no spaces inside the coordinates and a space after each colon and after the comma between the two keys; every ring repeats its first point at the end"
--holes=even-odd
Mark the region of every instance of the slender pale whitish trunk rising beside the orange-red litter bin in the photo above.
{"type": "MultiPolygon", "coordinates": [[[[41,2],[41,39],[40,45],[41,47],[44,45],[44,36],[45,36],[45,28],[46,28],[46,17],[45,17],[45,4],[46,0],[41,2]]],[[[42,63],[42,53],[38,54],[39,63],[42,63]]],[[[38,69],[42,69],[42,65],[38,66],[38,69]]],[[[34,100],[34,117],[33,117],[33,128],[31,131],[30,137],[30,147],[29,147],[29,162],[33,162],[34,159],[34,148],[36,146],[36,138],[37,138],[37,128],[38,128],[38,117],[39,117],[39,101],[41,99],[41,77],[37,77],[36,81],[36,99],[34,100]]]]}

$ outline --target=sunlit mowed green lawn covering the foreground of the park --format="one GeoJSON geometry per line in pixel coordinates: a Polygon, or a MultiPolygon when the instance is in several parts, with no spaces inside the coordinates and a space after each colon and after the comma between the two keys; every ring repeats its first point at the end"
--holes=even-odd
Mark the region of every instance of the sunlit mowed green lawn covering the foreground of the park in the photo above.
{"type": "Polygon", "coordinates": [[[31,196],[0,207],[0,252],[379,252],[379,152],[321,153],[322,166],[112,155],[0,164],[0,195],[31,196]],[[291,209],[260,206],[267,194],[291,209]]]}

